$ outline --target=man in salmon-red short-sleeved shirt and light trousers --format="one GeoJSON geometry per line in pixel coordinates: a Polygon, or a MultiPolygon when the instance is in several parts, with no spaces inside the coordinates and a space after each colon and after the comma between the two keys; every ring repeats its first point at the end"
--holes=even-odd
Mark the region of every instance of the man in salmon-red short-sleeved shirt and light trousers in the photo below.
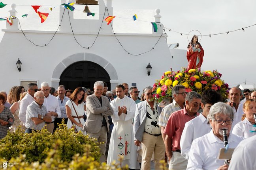
{"type": "Polygon", "coordinates": [[[184,109],[176,111],[169,116],[164,133],[166,153],[169,160],[169,170],[185,170],[188,160],[181,156],[181,134],[186,122],[199,115],[201,95],[197,92],[189,92],[185,98],[184,109]]]}

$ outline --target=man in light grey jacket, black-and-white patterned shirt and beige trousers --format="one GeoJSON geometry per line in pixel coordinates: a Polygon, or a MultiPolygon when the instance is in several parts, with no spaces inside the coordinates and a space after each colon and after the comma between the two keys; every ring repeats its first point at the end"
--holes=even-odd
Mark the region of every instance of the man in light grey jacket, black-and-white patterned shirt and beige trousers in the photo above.
{"type": "Polygon", "coordinates": [[[152,87],[144,89],[145,101],[136,105],[134,117],[134,144],[141,144],[141,169],[149,170],[150,161],[154,152],[155,169],[160,170],[160,160],[164,159],[165,146],[161,136],[161,128],[158,126],[158,118],[161,113],[158,103],[154,101],[152,87]]]}

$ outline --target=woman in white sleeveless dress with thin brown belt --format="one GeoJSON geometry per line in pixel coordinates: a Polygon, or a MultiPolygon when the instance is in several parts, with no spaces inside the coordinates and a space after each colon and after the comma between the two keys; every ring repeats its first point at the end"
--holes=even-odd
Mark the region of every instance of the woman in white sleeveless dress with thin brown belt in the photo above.
{"type": "Polygon", "coordinates": [[[66,103],[66,113],[68,116],[68,128],[75,126],[77,131],[82,131],[86,135],[86,132],[83,131],[83,125],[85,124],[83,118],[86,111],[86,105],[83,102],[84,95],[83,88],[77,87],[71,94],[70,100],[66,103]]]}

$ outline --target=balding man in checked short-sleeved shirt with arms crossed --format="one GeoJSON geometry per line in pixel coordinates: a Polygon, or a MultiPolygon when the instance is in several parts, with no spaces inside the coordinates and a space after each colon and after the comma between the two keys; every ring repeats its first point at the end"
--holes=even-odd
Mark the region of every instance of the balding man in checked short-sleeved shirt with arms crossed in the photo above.
{"type": "Polygon", "coordinates": [[[45,122],[51,122],[51,115],[43,105],[44,94],[38,91],[34,94],[34,101],[26,109],[26,130],[25,133],[41,130],[45,122]]]}

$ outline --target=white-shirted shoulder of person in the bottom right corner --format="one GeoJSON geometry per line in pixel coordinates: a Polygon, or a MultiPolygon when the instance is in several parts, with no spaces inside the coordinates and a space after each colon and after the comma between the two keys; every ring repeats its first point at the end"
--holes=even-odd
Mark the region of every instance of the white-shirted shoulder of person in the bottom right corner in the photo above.
{"type": "Polygon", "coordinates": [[[256,135],[243,140],[235,148],[229,170],[255,170],[256,135]]]}

